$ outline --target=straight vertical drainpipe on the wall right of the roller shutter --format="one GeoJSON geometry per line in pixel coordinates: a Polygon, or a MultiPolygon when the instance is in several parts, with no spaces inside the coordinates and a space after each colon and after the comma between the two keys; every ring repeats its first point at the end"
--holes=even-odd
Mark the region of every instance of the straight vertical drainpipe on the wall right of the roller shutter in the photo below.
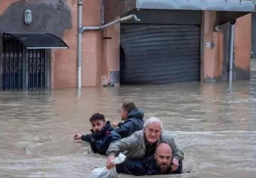
{"type": "Polygon", "coordinates": [[[230,32],[230,50],[229,50],[229,85],[232,84],[233,76],[233,52],[234,52],[234,29],[236,20],[230,21],[231,32],[230,32]]]}

